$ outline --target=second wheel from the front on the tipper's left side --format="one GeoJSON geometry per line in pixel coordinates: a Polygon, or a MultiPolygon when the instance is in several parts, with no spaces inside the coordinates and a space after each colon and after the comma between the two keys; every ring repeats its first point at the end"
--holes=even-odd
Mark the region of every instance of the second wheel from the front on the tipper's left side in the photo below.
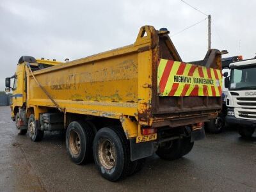
{"type": "Polygon", "coordinates": [[[28,119],[28,134],[32,141],[41,141],[44,138],[44,131],[39,129],[33,114],[28,119]]]}

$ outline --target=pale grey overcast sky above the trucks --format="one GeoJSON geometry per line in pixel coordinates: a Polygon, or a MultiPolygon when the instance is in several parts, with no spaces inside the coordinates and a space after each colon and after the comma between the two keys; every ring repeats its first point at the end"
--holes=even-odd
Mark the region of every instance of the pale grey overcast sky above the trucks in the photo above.
{"type": "MultiPolygon", "coordinates": [[[[185,1],[211,14],[212,48],[227,49],[225,57],[255,56],[256,1],[185,1]]],[[[0,91],[22,55],[76,60],[134,43],[146,24],[173,35],[205,17],[180,0],[1,0],[0,91]]],[[[183,61],[200,60],[207,52],[207,20],[171,38],[183,61]]]]}

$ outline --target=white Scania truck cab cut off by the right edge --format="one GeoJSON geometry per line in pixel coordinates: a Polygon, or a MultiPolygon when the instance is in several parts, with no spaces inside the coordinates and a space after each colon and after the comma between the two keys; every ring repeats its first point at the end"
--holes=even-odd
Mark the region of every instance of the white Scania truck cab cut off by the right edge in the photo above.
{"type": "Polygon", "coordinates": [[[256,59],[230,64],[230,76],[225,77],[228,124],[239,125],[239,134],[252,136],[256,125],[256,59]]]}

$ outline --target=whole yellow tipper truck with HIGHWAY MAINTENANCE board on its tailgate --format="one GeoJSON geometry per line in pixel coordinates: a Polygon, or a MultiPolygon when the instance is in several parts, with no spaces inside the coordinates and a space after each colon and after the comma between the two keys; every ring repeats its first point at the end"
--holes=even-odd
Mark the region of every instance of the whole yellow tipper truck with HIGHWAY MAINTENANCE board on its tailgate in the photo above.
{"type": "Polygon", "coordinates": [[[155,152],[168,160],[188,154],[221,110],[222,52],[184,63],[168,33],[143,26],[132,45],[67,63],[22,56],[6,78],[19,134],[40,141],[44,131],[65,130],[70,159],[94,158],[112,181],[155,152]]]}

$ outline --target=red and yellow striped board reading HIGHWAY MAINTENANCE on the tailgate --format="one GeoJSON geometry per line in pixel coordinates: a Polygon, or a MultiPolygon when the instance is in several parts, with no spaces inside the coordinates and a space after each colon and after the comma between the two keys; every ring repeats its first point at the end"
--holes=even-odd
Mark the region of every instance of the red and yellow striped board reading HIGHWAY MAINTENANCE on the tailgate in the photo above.
{"type": "Polygon", "coordinates": [[[159,96],[221,96],[220,70],[163,59],[158,64],[159,96]]]}

